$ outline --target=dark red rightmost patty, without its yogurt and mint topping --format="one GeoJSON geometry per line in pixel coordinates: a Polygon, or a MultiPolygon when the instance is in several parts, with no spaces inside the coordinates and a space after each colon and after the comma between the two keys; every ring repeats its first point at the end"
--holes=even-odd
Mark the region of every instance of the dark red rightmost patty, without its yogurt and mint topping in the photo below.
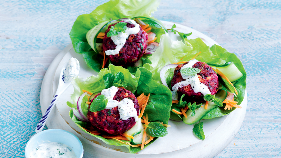
{"type": "MultiPolygon", "coordinates": [[[[171,87],[173,87],[176,83],[185,81],[185,79],[183,79],[183,77],[181,76],[181,67],[183,67],[187,63],[188,62],[176,67],[174,71],[174,76],[172,78],[171,87]]],[[[198,73],[197,76],[200,82],[208,87],[212,95],[216,94],[219,88],[219,79],[217,74],[214,72],[214,70],[205,62],[200,62],[200,61],[196,62],[192,67],[198,68],[200,70],[203,67],[203,70],[200,73],[198,73]]],[[[201,92],[195,93],[191,85],[187,85],[179,88],[177,93],[178,93],[178,99],[181,98],[183,94],[185,94],[185,96],[183,97],[183,101],[186,102],[200,103],[205,101],[203,94],[201,92]]]]}

